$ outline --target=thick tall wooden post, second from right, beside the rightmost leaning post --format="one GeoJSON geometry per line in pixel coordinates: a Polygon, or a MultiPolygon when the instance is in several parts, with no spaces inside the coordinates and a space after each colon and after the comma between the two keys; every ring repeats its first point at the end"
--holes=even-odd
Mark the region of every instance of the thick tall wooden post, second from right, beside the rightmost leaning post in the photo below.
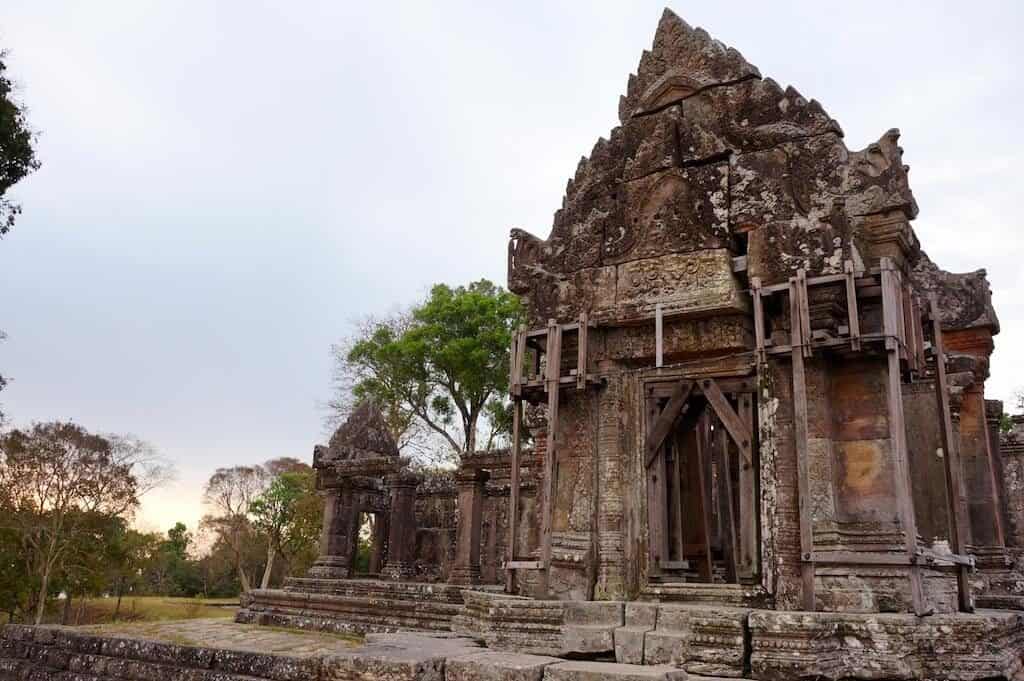
{"type": "Polygon", "coordinates": [[[913,512],[913,488],[910,481],[910,467],[907,463],[906,426],[903,422],[903,391],[900,371],[900,325],[903,324],[903,297],[899,289],[899,272],[893,268],[889,258],[882,258],[882,317],[885,325],[886,348],[889,358],[888,394],[889,434],[896,488],[896,507],[900,524],[903,526],[906,555],[910,561],[910,600],[918,615],[930,612],[925,600],[921,565],[918,564],[918,519],[913,512]],[[890,337],[895,343],[890,345],[890,337]]]}

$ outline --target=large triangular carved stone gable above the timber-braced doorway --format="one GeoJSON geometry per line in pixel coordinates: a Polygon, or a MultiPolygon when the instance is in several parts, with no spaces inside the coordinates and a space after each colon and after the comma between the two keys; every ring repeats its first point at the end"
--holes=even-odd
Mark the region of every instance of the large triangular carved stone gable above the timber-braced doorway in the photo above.
{"type": "Polygon", "coordinates": [[[899,131],[850,151],[820,103],[670,10],[620,119],[580,160],[547,239],[512,232],[509,289],[531,323],[638,321],[658,303],[670,315],[745,312],[735,256],[762,285],[838,273],[847,259],[872,266],[884,239],[916,258],[899,131]],[[713,280],[709,292],[700,282],[713,280]]]}

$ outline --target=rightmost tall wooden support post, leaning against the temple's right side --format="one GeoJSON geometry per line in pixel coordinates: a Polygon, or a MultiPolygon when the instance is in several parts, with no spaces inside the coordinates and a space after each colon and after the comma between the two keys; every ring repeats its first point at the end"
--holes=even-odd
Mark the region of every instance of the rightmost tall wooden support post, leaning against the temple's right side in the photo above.
{"type": "MultiPolygon", "coordinates": [[[[959,444],[953,432],[952,411],[949,407],[949,387],[946,383],[946,353],[942,348],[942,328],[939,317],[939,304],[935,294],[929,295],[929,307],[932,317],[932,350],[935,353],[935,397],[939,407],[941,419],[941,435],[943,459],[946,473],[946,503],[949,509],[949,548],[957,555],[967,553],[968,544],[968,513],[967,495],[964,491],[963,469],[959,462],[959,444]]],[[[971,596],[970,568],[958,565],[956,568],[956,586],[959,595],[959,608],[964,612],[974,612],[974,598],[971,596]]]]}

